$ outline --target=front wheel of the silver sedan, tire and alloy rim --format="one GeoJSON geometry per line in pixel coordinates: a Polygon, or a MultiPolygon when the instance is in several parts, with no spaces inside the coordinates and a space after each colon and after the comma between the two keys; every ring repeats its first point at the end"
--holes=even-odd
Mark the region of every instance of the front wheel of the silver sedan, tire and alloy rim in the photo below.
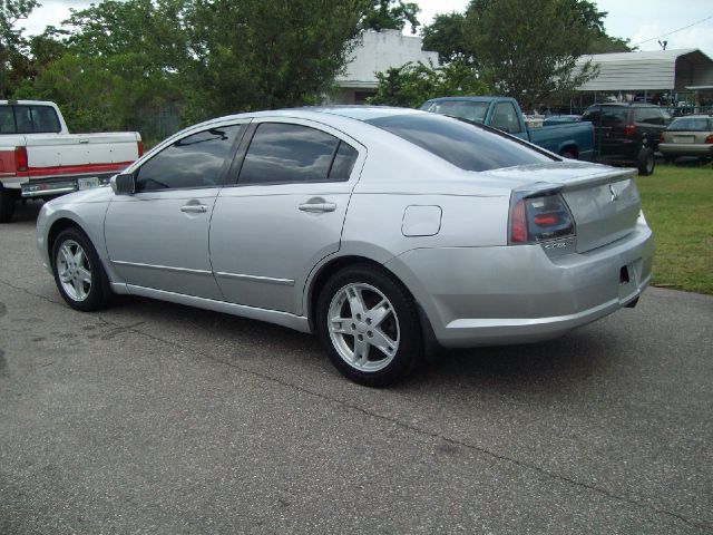
{"type": "Polygon", "coordinates": [[[67,228],[55,240],[52,272],[59,293],[72,309],[90,312],[106,304],[107,275],[97,251],[80,230],[67,228]]]}

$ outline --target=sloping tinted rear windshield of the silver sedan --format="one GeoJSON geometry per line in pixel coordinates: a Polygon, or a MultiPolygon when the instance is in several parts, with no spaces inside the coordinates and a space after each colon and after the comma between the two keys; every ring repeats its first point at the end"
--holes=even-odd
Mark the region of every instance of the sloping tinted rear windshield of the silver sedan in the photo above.
{"type": "Polygon", "coordinates": [[[411,142],[465,171],[556,162],[505,134],[434,114],[391,115],[367,123],[411,142]]]}

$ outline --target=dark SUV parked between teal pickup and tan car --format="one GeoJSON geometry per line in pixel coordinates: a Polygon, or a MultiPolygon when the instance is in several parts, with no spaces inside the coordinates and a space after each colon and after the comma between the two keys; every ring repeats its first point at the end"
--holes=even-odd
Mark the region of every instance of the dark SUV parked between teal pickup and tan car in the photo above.
{"type": "Polygon", "coordinates": [[[582,120],[594,125],[598,162],[634,166],[639,175],[654,173],[654,153],[671,120],[664,109],[646,104],[595,104],[582,120]]]}

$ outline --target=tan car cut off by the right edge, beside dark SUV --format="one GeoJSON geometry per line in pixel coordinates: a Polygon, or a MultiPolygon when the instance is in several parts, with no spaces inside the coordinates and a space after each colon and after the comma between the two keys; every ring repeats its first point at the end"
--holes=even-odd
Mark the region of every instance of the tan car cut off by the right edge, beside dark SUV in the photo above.
{"type": "Polygon", "coordinates": [[[713,117],[688,115],[673,119],[661,135],[658,150],[667,162],[678,156],[713,158],[713,117]]]}

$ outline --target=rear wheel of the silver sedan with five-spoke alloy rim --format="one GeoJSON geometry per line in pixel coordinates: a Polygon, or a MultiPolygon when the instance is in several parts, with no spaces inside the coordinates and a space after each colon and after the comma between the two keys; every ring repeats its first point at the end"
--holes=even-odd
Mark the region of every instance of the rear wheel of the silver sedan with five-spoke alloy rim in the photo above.
{"type": "Polygon", "coordinates": [[[316,327],[334,367],[360,385],[392,385],[421,360],[413,299],[398,280],[370,265],[345,268],[328,281],[316,327]]]}

